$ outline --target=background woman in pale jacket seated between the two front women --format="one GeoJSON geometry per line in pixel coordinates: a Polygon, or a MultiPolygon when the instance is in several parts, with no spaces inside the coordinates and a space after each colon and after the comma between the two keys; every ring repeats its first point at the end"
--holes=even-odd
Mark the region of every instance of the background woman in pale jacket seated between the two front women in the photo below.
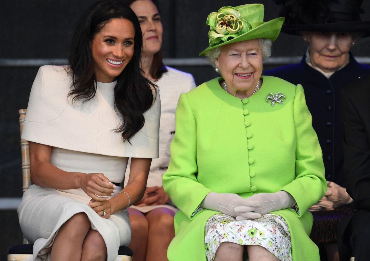
{"type": "MultiPolygon", "coordinates": [[[[133,260],[167,260],[167,248],[175,236],[177,211],[162,186],[162,175],[169,164],[169,145],[175,134],[175,110],[179,96],[195,87],[189,73],[165,66],[162,62],[162,23],[158,6],[152,0],[125,0],[138,16],[143,34],[141,68],[158,85],[161,96],[159,158],[152,161],[144,198],[128,209],[132,228],[129,247],[133,260]],[[147,255],[148,253],[148,255],[147,255]]],[[[127,173],[128,175],[128,173],[127,173]]]]}

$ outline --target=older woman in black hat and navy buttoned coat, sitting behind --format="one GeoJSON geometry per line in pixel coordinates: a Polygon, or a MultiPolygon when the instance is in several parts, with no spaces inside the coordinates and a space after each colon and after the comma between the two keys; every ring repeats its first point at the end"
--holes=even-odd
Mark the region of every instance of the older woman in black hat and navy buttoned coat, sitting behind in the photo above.
{"type": "Polygon", "coordinates": [[[312,240],[324,246],[329,260],[338,260],[336,229],[352,202],[343,175],[343,121],[340,90],[370,73],[350,53],[357,38],[369,36],[370,21],[361,21],[362,0],[280,1],[286,20],[282,31],[308,43],[301,63],[266,71],[293,84],[301,83],[312,114],[312,126],[323,151],[326,195],[310,208],[312,240]],[[330,211],[328,211],[330,210],[330,211]]]}

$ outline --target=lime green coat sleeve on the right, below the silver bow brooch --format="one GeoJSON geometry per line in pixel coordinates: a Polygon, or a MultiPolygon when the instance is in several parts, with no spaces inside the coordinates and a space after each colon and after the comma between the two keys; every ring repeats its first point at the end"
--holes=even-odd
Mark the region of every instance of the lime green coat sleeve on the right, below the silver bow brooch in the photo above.
{"type": "Polygon", "coordinates": [[[296,128],[296,179],[281,190],[293,196],[299,212],[292,211],[300,217],[325,195],[327,189],[322,151],[300,84],[296,87],[293,117],[296,128]]]}

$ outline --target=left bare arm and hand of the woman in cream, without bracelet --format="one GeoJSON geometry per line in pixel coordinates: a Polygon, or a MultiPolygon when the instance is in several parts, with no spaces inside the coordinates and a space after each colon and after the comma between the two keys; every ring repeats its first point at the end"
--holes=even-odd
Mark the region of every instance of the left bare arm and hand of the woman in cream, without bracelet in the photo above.
{"type": "Polygon", "coordinates": [[[51,146],[29,142],[30,168],[33,183],[53,189],[78,189],[95,200],[106,200],[98,196],[110,196],[114,185],[102,173],[85,174],[63,171],[50,163],[51,146]]]}

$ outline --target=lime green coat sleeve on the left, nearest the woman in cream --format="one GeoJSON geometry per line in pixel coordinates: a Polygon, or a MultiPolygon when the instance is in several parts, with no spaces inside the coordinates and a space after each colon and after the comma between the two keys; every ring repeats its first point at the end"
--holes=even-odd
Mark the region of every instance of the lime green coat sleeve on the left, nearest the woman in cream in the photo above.
{"type": "Polygon", "coordinates": [[[172,202],[189,219],[205,196],[211,192],[197,180],[196,121],[188,96],[182,93],[176,108],[176,132],[171,143],[171,161],[163,175],[163,188],[172,202]]]}

